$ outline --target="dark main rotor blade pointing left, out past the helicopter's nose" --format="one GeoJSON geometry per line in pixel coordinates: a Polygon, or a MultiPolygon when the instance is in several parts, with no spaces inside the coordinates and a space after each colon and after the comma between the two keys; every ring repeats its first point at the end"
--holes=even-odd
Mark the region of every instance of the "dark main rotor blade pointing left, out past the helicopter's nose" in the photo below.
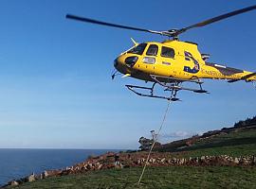
{"type": "Polygon", "coordinates": [[[85,22],[85,23],[102,25],[102,26],[119,27],[119,28],[123,28],[123,29],[130,29],[130,30],[136,30],[136,31],[144,31],[144,32],[156,33],[156,34],[161,34],[162,33],[161,31],[153,31],[153,30],[144,29],[144,28],[138,28],[138,27],[134,27],[134,26],[122,26],[122,25],[117,25],[117,24],[113,24],[113,23],[106,23],[106,22],[102,22],[102,21],[98,21],[98,20],[93,20],[93,19],[85,18],[85,17],[80,17],[80,16],[76,16],[76,15],[72,15],[72,14],[66,14],[65,18],[76,20],[76,21],[81,21],[81,22],[85,22]]]}

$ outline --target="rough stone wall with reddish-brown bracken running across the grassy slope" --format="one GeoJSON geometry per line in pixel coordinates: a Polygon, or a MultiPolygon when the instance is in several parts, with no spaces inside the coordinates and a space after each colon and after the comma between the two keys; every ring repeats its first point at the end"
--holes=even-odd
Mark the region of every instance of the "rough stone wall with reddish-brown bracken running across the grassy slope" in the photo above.
{"type": "MultiPolygon", "coordinates": [[[[121,153],[113,152],[103,154],[98,157],[91,157],[83,163],[78,163],[70,167],[60,170],[46,170],[39,175],[34,173],[20,180],[12,180],[5,186],[16,186],[24,182],[34,180],[43,180],[50,177],[60,177],[70,174],[84,173],[88,171],[125,168],[142,166],[147,161],[146,152],[138,153],[121,153]],[[117,158],[117,156],[119,158],[117,158]]],[[[201,156],[190,158],[175,158],[171,153],[153,152],[148,161],[148,166],[210,166],[210,165],[226,165],[226,166],[256,166],[256,156],[230,157],[222,156],[201,156]]],[[[3,187],[5,187],[3,186],[3,187]]]]}

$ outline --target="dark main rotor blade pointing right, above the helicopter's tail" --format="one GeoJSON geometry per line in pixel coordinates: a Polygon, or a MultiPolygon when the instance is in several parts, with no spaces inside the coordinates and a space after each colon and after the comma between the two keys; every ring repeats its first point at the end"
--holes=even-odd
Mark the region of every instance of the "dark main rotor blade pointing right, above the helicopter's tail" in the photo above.
{"type": "Polygon", "coordinates": [[[242,14],[242,13],[245,13],[247,11],[250,11],[250,10],[253,10],[253,9],[256,9],[256,5],[255,6],[250,6],[250,7],[247,7],[247,8],[244,8],[244,9],[237,9],[237,10],[234,10],[234,11],[231,11],[229,13],[226,13],[226,14],[222,14],[220,16],[216,16],[216,17],[213,17],[213,18],[210,18],[206,21],[203,21],[201,23],[197,23],[195,25],[192,25],[192,26],[187,26],[187,27],[184,27],[182,29],[178,29],[176,32],[175,32],[175,36],[189,30],[189,29],[192,29],[192,28],[195,28],[195,27],[200,27],[200,26],[207,26],[207,25],[210,25],[212,23],[215,23],[215,22],[218,22],[218,21],[221,21],[221,20],[224,20],[224,19],[227,19],[231,16],[235,16],[235,15],[238,15],[238,14],[242,14]]]}

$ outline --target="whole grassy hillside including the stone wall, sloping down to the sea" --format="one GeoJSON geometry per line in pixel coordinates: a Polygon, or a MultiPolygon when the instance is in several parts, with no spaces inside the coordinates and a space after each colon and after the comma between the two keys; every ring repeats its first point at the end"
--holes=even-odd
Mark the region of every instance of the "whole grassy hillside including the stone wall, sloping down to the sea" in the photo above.
{"type": "Polygon", "coordinates": [[[119,153],[118,164],[115,153],[92,157],[19,188],[256,188],[255,149],[254,125],[214,130],[155,149],[139,186],[147,151],[119,153]]]}

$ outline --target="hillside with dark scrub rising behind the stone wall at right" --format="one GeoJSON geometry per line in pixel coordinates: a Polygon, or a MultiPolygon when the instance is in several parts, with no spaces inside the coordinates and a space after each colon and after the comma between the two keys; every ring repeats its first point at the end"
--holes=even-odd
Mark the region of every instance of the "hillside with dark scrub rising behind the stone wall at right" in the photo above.
{"type": "Polygon", "coordinates": [[[176,152],[182,156],[202,155],[229,155],[247,156],[255,155],[256,149],[256,125],[247,128],[230,128],[209,131],[202,136],[193,136],[189,139],[174,141],[165,144],[157,151],[176,152]]]}

